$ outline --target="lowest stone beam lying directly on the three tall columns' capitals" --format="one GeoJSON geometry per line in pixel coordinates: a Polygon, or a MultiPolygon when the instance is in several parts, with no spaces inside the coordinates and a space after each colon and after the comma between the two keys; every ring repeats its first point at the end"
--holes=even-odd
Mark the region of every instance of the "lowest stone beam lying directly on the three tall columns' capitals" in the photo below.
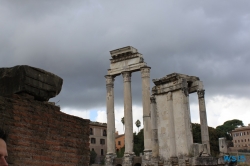
{"type": "Polygon", "coordinates": [[[129,71],[129,72],[132,73],[132,72],[140,71],[140,69],[142,67],[145,67],[145,66],[147,66],[147,64],[145,62],[137,63],[137,64],[131,64],[131,65],[128,65],[128,66],[124,65],[124,66],[117,67],[117,68],[114,68],[114,69],[109,69],[108,70],[108,75],[118,76],[124,71],[129,71]]]}

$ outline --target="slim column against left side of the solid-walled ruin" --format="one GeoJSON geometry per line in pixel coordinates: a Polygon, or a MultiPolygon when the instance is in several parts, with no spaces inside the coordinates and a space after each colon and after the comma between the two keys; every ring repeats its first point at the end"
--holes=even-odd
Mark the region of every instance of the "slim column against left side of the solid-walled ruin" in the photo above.
{"type": "Polygon", "coordinates": [[[155,97],[150,97],[151,105],[151,126],[152,126],[152,157],[157,158],[159,156],[159,143],[158,143],[158,128],[157,128],[157,110],[155,97]]]}

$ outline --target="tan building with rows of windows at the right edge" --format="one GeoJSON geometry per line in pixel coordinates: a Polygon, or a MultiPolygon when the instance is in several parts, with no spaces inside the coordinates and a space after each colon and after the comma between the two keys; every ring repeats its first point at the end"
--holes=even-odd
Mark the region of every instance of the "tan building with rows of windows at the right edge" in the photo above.
{"type": "Polygon", "coordinates": [[[250,124],[246,127],[239,127],[232,131],[234,147],[249,149],[250,147],[250,124]]]}

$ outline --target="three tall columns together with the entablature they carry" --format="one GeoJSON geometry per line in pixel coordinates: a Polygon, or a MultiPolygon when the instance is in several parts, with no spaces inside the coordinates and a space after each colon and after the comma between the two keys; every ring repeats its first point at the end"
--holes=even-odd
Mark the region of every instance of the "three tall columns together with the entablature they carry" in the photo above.
{"type": "Polygon", "coordinates": [[[151,153],[150,121],[150,67],[144,62],[137,49],[128,46],[110,51],[110,69],[106,78],[107,87],[107,155],[106,165],[112,166],[115,151],[115,114],[114,114],[114,78],[120,74],[124,81],[124,119],[125,119],[125,153],[124,166],[132,165],[133,152],[133,117],[131,96],[131,74],[141,71],[143,96],[144,153],[151,153]]]}

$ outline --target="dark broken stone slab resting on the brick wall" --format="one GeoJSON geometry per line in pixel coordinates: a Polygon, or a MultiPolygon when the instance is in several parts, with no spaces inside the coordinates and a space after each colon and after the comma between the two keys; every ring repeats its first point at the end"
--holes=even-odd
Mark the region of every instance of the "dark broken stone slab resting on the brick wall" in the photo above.
{"type": "Polygon", "coordinates": [[[35,100],[48,101],[58,95],[63,79],[48,71],[20,65],[0,68],[0,96],[27,93],[35,100]]]}

